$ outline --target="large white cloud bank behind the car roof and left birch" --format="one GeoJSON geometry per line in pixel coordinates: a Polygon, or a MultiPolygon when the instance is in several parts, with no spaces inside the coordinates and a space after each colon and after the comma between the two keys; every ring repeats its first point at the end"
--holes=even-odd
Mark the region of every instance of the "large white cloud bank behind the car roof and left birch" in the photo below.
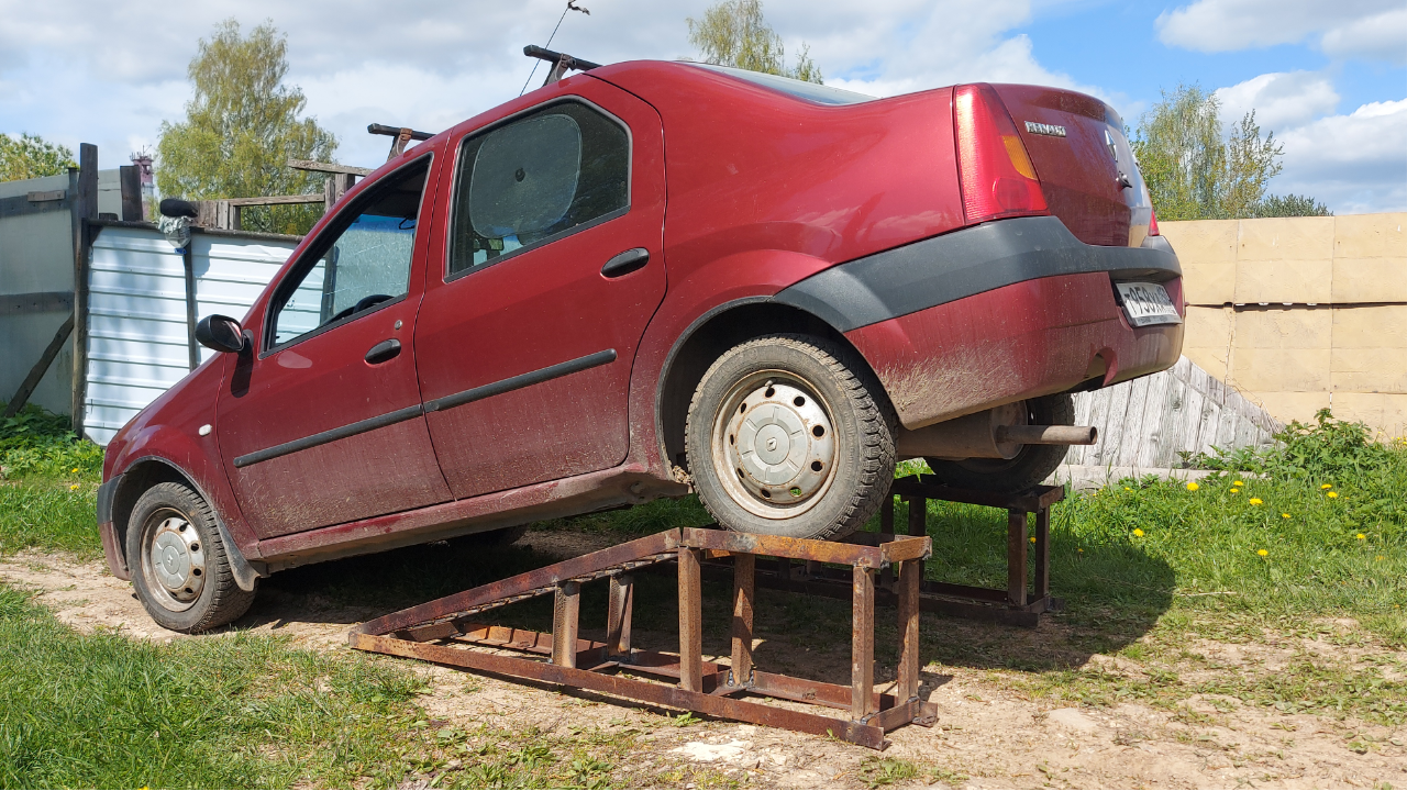
{"type": "MultiPolygon", "coordinates": [[[[553,49],[602,63],[689,55],[684,18],[702,15],[709,1],[584,0],[591,15],[568,13],[553,49]]],[[[155,144],[160,121],[183,115],[196,42],[227,17],[246,31],[267,18],[288,38],[288,82],[340,138],[338,158],[374,165],[388,141],[367,135],[369,122],[439,131],[516,96],[532,69],[522,46],[545,44],[563,4],[422,0],[388,8],[381,0],[246,0],[170,13],[156,0],[0,0],[0,131],[70,148],[96,142],[101,166],[125,162],[134,141],[155,144]]],[[[1030,20],[1027,0],[771,0],[767,15],[788,53],[808,42],[827,83],[862,93],[991,80],[1104,97],[1041,66],[1030,39],[1009,32],[1030,20]]],[[[539,69],[529,87],[545,75],[539,69]]]]}

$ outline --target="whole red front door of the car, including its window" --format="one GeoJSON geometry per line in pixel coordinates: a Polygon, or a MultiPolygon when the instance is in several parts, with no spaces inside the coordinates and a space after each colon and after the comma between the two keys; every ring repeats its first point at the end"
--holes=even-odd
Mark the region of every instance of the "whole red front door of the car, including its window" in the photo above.
{"type": "Polygon", "coordinates": [[[432,153],[377,179],[300,253],[246,328],[219,450],[260,538],[450,500],[411,342],[433,214],[432,153]]]}

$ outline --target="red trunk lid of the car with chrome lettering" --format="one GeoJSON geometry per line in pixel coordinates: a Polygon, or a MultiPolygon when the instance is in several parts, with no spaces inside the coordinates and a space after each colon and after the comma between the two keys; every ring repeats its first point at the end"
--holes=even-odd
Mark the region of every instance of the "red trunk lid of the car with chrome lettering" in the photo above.
{"type": "Polygon", "coordinates": [[[1051,214],[1086,245],[1141,245],[1152,205],[1119,113],[1072,90],[992,87],[1016,122],[1051,214]]]}

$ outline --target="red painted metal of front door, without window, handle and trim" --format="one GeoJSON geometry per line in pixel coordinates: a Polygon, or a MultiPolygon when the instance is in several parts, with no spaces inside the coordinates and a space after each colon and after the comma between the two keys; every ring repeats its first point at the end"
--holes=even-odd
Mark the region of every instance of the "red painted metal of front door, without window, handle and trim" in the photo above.
{"type": "MultiPolygon", "coordinates": [[[[286,345],[272,355],[242,355],[219,393],[219,452],[245,518],[259,538],[404,511],[450,500],[435,463],[425,419],[397,422],[236,467],[246,453],[418,407],[415,315],[424,293],[428,228],[433,225],[433,172],[409,270],[409,293],[340,327],[286,345]],[[398,328],[400,325],[400,328],[398,328]],[[364,355],[386,339],[402,342],[395,357],[370,365],[364,355]]],[[[348,204],[342,204],[346,210],[348,204]]],[[[307,245],[304,245],[307,248],[307,245]]],[[[300,251],[301,252],[301,251],[300,251]]],[[[298,253],[290,256],[295,262],[298,253]]],[[[265,293],[290,274],[290,266],[265,293]]],[[[266,304],[266,303],[265,303],[266,304]]],[[[263,305],[249,331],[262,339],[263,305]]]]}

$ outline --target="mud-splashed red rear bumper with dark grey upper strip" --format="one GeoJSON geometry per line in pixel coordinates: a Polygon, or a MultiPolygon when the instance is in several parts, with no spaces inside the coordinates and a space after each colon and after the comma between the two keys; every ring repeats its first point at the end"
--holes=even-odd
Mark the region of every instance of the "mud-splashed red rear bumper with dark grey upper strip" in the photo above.
{"type": "Polygon", "coordinates": [[[841,329],[905,428],[1171,367],[1182,325],[1133,328],[1113,280],[1164,283],[1171,248],[1100,248],[1054,217],[1006,220],[832,267],[778,294],[841,329]]]}

